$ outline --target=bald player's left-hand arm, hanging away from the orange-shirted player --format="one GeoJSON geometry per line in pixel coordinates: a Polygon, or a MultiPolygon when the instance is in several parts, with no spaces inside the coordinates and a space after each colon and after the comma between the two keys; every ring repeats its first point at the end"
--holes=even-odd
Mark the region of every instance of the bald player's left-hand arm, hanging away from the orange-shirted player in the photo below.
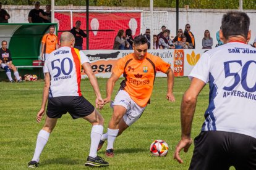
{"type": "Polygon", "coordinates": [[[41,105],[41,109],[38,111],[36,116],[36,121],[38,123],[40,123],[41,119],[43,118],[43,115],[45,115],[45,106],[48,100],[50,82],[51,82],[51,78],[49,73],[45,73],[45,86],[43,87],[42,105],[41,105]]]}

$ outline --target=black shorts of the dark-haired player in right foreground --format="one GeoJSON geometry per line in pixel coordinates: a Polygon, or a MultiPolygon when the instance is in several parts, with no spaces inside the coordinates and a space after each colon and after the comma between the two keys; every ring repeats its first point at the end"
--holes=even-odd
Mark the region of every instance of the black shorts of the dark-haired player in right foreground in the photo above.
{"type": "Polygon", "coordinates": [[[222,131],[201,132],[189,169],[256,169],[256,139],[244,134],[222,131]]]}

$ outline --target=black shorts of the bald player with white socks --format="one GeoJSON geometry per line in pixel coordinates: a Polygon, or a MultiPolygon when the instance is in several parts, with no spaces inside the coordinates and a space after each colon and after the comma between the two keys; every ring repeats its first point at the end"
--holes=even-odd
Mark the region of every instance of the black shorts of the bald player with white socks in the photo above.
{"type": "Polygon", "coordinates": [[[95,108],[83,96],[49,97],[46,114],[49,118],[61,118],[69,112],[73,119],[93,113],[95,108]]]}

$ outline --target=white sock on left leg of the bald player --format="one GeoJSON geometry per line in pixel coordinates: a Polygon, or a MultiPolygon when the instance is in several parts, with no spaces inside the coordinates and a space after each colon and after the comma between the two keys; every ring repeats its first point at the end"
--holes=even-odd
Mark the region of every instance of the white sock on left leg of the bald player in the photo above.
{"type": "Polygon", "coordinates": [[[41,129],[41,131],[38,133],[37,140],[36,140],[36,148],[35,153],[32,158],[32,161],[39,162],[39,157],[43,151],[43,148],[45,147],[47,141],[49,139],[49,132],[41,129]]]}

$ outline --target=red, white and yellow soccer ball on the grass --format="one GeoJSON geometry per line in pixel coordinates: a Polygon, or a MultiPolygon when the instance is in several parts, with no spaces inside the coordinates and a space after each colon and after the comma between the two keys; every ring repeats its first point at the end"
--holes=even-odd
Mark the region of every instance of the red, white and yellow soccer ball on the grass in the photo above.
{"type": "Polygon", "coordinates": [[[168,148],[168,144],[164,140],[155,140],[150,145],[150,152],[153,156],[166,156],[168,148]]]}

